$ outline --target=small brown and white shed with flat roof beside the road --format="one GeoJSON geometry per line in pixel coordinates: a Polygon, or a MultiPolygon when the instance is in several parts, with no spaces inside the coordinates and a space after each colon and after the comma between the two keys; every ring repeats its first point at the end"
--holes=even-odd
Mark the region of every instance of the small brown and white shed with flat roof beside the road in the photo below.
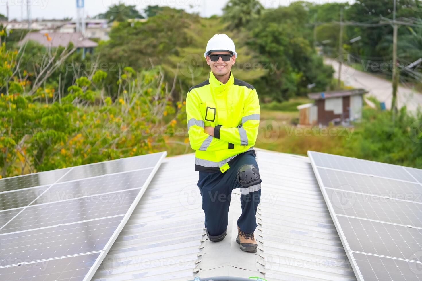
{"type": "Polygon", "coordinates": [[[300,126],[349,126],[351,121],[362,117],[364,89],[328,91],[308,94],[314,103],[301,104],[299,110],[300,126]]]}

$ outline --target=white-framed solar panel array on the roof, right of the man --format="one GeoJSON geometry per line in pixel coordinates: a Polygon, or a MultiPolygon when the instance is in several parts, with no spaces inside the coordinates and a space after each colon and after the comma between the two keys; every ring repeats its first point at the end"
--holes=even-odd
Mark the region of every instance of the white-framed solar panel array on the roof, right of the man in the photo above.
{"type": "Polygon", "coordinates": [[[422,279],[422,170],[308,151],[359,280],[422,279]]]}

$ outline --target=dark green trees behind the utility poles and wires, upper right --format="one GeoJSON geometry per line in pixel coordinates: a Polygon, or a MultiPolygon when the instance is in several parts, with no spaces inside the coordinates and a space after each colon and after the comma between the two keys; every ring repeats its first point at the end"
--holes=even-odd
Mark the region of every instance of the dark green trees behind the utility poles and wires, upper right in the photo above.
{"type": "MultiPolygon", "coordinates": [[[[327,3],[323,5],[310,5],[309,22],[315,21],[317,27],[317,41],[324,53],[336,57],[339,49],[339,24],[340,8],[344,9],[344,20],[356,21],[364,24],[378,24],[381,16],[393,19],[394,1],[392,0],[358,0],[350,5],[348,3],[327,3]],[[333,22],[335,21],[335,22],[333,22]],[[322,44],[322,41],[329,40],[322,44]]],[[[421,21],[419,0],[397,0],[396,17],[400,21],[421,21]]],[[[422,56],[422,28],[400,26],[398,29],[398,60],[406,65],[416,61],[422,56]]],[[[344,27],[343,49],[354,57],[359,68],[362,65],[365,71],[379,72],[391,77],[392,71],[392,43],[393,28],[390,24],[380,26],[344,27]],[[350,43],[349,40],[360,36],[361,39],[350,43]],[[371,68],[371,64],[376,66],[371,68]],[[379,67],[387,64],[387,68],[379,67]]],[[[414,70],[401,71],[400,75],[407,80],[417,82],[420,75],[414,70]]]]}

